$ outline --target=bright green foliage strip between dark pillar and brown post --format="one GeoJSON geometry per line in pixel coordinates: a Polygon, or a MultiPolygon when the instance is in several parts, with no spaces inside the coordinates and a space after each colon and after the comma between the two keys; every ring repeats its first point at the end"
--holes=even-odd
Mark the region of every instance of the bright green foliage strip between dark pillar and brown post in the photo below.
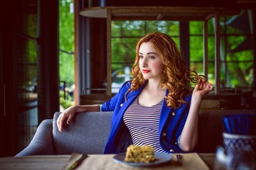
{"type": "Polygon", "coordinates": [[[75,30],[73,0],[59,1],[59,74],[60,105],[73,105],[75,81],[75,30]]]}

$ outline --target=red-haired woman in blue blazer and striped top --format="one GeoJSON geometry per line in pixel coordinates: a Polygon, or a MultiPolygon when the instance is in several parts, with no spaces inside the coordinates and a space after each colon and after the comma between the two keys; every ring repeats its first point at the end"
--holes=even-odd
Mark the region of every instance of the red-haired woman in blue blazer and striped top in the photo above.
{"type": "Polygon", "coordinates": [[[198,113],[202,97],[213,90],[203,76],[186,69],[174,40],[150,33],[139,40],[134,79],[102,105],[71,106],[57,124],[75,113],[113,111],[106,154],[126,152],[130,144],[151,145],[156,152],[193,152],[198,142],[198,113]],[[196,83],[191,91],[190,83],[196,83]]]}

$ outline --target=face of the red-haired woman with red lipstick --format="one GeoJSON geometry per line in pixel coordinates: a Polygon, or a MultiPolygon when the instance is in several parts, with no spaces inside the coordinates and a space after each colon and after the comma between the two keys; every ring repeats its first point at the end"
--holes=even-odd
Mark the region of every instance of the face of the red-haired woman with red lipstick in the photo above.
{"type": "Polygon", "coordinates": [[[144,79],[160,79],[163,62],[152,42],[143,42],[139,47],[139,69],[144,79]]]}

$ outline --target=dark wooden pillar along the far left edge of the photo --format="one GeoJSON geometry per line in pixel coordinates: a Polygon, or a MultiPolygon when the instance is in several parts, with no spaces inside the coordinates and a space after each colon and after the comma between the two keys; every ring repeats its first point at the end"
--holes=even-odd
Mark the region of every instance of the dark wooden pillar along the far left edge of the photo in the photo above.
{"type": "MultiPolygon", "coordinates": [[[[18,1],[16,6],[21,4],[18,1]]],[[[11,1],[0,7],[0,157],[14,156],[18,152],[17,33],[21,28],[22,8],[13,6],[13,12],[9,13],[6,6],[11,6],[11,1]]]]}

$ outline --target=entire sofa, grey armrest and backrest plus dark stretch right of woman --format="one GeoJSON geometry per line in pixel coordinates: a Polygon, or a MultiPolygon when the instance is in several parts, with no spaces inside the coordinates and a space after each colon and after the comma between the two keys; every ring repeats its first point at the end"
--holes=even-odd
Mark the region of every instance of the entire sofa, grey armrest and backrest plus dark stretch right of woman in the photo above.
{"type": "MultiPolygon", "coordinates": [[[[215,110],[199,113],[199,141],[197,151],[201,153],[215,152],[222,145],[223,115],[238,113],[255,113],[256,110],[215,110]]],[[[56,120],[43,120],[36,130],[31,143],[16,154],[15,157],[41,154],[102,154],[110,133],[112,112],[87,112],[74,116],[70,125],[64,124],[63,132],[59,132],[56,120]]],[[[256,126],[256,125],[255,125],[256,126]]],[[[255,127],[256,128],[256,127],[255,127]]]]}

